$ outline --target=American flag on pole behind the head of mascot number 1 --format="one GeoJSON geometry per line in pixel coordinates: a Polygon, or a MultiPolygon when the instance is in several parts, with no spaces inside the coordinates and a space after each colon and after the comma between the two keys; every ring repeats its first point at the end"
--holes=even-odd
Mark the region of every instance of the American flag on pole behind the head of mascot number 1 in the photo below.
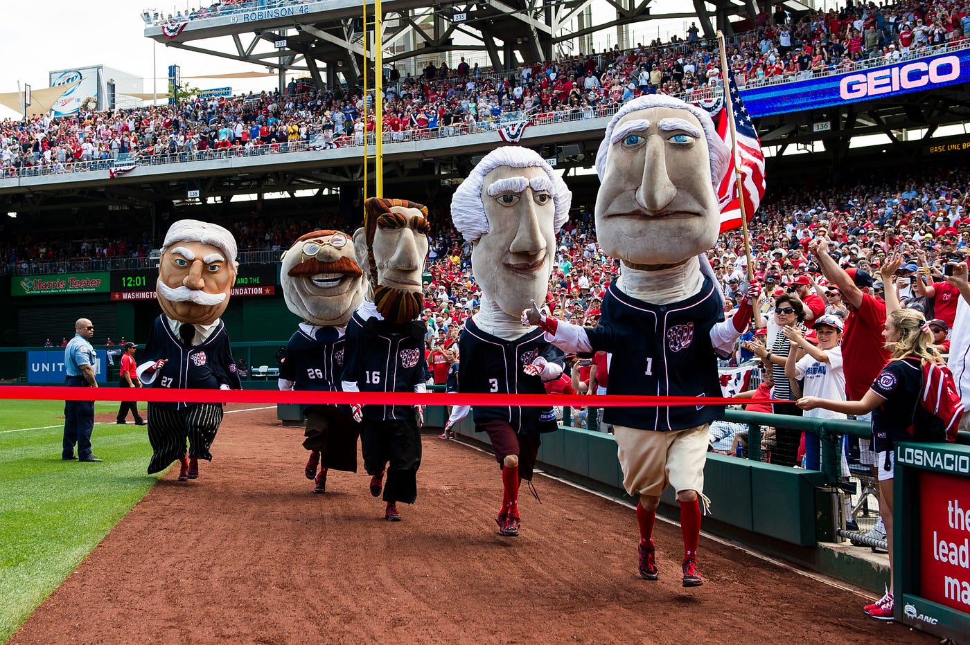
{"type": "MultiPolygon", "coordinates": [[[[758,132],[751,122],[751,115],[741,101],[741,94],[737,91],[734,76],[728,72],[728,95],[734,110],[734,128],[737,133],[737,156],[741,162],[741,177],[744,188],[744,211],[748,219],[755,215],[761,198],[764,197],[764,153],[761,152],[761,142],[758,132]]],[[[715,115],[718,136],[731,147],[730,126],[727,121],[727,104],[721,112],[715,115]]],[[[734,170],[735,159],[731,155],[727,174],[718,187],[718,202],[721,205],[721,232],[741,228],[741,205],[738,199],[737,173],[734,170]]]]}

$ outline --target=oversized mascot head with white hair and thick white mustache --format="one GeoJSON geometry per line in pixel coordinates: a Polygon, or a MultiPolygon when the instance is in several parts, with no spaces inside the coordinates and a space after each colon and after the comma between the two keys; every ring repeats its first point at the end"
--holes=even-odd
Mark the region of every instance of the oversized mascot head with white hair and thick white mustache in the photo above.
{"type": "Polygon", "coordinates": [[[180,323],[214,323],[229,305],[238,267],[229,230],[198,220],[176,222],[158,264],[155,293],[162,311],[180,323]]]}

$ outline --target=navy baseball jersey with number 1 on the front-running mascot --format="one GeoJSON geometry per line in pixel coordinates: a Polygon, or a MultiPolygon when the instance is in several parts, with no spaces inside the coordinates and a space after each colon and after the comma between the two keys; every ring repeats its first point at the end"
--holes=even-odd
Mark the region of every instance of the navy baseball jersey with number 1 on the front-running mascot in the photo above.
{"type": "MultiPolygon", "coordinates": [[[[725,316],[709,278],[696,295],[665,305],[637,300],[614,282],[600,312],[586,333],[595,350],[613,354],[607,394],[722,396],[711,328],[725,316]]],[[[724,414],[724,406],[606,408],[603,422],[683,430],[724,414]]]]}

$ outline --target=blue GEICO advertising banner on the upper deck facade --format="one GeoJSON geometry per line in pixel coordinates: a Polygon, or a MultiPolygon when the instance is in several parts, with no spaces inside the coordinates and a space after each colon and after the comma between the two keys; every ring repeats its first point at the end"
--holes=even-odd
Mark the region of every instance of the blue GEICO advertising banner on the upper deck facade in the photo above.
{"type": "Polygon", "coordinates": [[[741,98],[752,116],[767,116],[885,99],[968,80],[970,49],[962,49],[830,77],[746,87],[741,98]]]}

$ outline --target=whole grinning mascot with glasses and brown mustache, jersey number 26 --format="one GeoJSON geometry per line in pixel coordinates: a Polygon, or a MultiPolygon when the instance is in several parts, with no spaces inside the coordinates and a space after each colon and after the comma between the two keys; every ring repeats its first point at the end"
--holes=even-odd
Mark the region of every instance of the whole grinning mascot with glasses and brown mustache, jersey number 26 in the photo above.
{"type": "MultiPolygon", "coordinates": [[[[279,389],[339,391],[344,332],[364,299],[353,240],[337,230],[314,230],[281,261],[286,306],[304,322],[286,345],[279,389]]],[[[302,405],[300,410],[307,418],[304,447],[310,451],[304,473],[314,480],[313,492],[324,493],[328,470],[357,472],[358,423],[347,406],[302,405]]]]}

